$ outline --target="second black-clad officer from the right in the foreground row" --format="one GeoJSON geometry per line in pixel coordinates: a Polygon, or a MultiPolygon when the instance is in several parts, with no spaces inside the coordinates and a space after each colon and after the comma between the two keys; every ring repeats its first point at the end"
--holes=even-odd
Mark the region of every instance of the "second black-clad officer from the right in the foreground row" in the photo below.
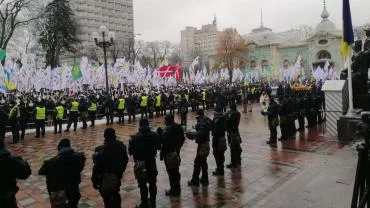
{"type": "Polygon", "coordinates": [[[212,173],[214,176],[224,175],[224,162],[225,162],[225,151],[227,148],[226,138],[225,138],[225,117],[222,113],[223,107],[217,106],[216,112],[213,117],[213,129],[212,129],[212,148],[213,156],[216,160],[217,168],[212,173]]]}

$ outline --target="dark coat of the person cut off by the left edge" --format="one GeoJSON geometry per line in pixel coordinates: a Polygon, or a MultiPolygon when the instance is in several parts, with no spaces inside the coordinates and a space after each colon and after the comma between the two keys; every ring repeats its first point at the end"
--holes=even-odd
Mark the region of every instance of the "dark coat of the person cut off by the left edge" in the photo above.
{"type": "Polygon", "coordinates": [[[6,150],[0,150],[0,167],[0,197],[14,196],[19,190],[17,179],[27,179],[31,168],[21,157],[12,157],[6,150]]]}

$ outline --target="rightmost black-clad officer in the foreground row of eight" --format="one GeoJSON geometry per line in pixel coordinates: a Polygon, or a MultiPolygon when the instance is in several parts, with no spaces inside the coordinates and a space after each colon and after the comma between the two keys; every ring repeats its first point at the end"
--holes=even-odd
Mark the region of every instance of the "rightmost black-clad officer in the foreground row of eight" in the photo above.
{"type": "Polygon", "coordinates": [[[227,168],[237,168],[241,165],[241,138],[239,133],[240,112],[235,104],[230,105],[230,110],[226,113],[226,130],[231,153],[231,163],[227,168]]]}

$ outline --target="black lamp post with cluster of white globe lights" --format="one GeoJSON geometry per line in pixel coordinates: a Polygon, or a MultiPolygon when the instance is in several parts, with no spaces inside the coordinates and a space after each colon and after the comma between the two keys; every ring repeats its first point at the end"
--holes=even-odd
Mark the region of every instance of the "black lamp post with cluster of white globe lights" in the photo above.
{"type": "Polygon", "coordinates": [[[104,68],[105,68],[105,87],[107,95],[109,95],[110,89],[108,85],[108,64],[107,64],[107,49],[114,43],[114,32],[109,32],[106,26],[100,27],[102,36],[100,37],[97,32],[93,32],[95,44],[103,49],[104,52],[104,68]],[[100,38],[102,38],[100,40],[100,38]]]}

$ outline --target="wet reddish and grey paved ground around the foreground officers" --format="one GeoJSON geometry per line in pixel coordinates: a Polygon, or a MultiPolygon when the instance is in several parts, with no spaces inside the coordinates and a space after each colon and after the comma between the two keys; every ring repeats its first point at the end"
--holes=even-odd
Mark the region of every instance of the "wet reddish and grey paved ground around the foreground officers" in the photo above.
{"type": "MultiPolygon", "coordinates": [[[[157,207],[349,207],[355,176],[357,153],[352,144],[339,144],[336,138],[323,136],[323,126],[304,134],[297,133],[295,140],[279,142],[276,148],[266,145],[269,137],[267,118],[259,112],[258,105],[254,112],[243,114],[240,131],[243,138],[242,167],[234,172],[226,170],[224,177],[213,177],[215,161],[208,157],[210,185],[190,188],[186,186],[193,169],[196,145],[187,140],[181,151],[181,197],[165,196],[168,189],[168,177],[163,162],[158,165],[157,207]]],[[[213,112],[206,112],[213,117],[213,112]]],[[[195,119],[189,113],[188,128],[195,119]]],[[[176,118],[177,120],[179,118],[176,118]]],[[[153,127],[162,125],[163,118],[151,121],[153,127]]],[[[117,135],[125,144],[129,136],[137,131],[138,122],[125,125],[112,125],[117,135]]],[[[50,207],[45,178],[37,172],[45,159],[57,153],[56,145],[61,138],[68,137],[75,149],[86,154],[87,161],[82,172],[81,200],[79,207],[103,207],[99,193],[93,189],[90,177],[92,171],[93,150],[103,142],[105,125],[78,129],[76,132],[54,135],[47,132],[42,139],[29,134],[25,142],[9,145],[13,155],[20,155],[28,160],[32,176],[20,181],[17,194],[19,207],[50,207]]],[[[10,137],[7,138],[10,142],[10,137]]],[[[230,153],[226,152],[226,163],[230,153]]],[[[130,158],[122,180],[122,207],[135,207],[139,203],[140,192],[133,174],[133,162],[130,158]]]]}

